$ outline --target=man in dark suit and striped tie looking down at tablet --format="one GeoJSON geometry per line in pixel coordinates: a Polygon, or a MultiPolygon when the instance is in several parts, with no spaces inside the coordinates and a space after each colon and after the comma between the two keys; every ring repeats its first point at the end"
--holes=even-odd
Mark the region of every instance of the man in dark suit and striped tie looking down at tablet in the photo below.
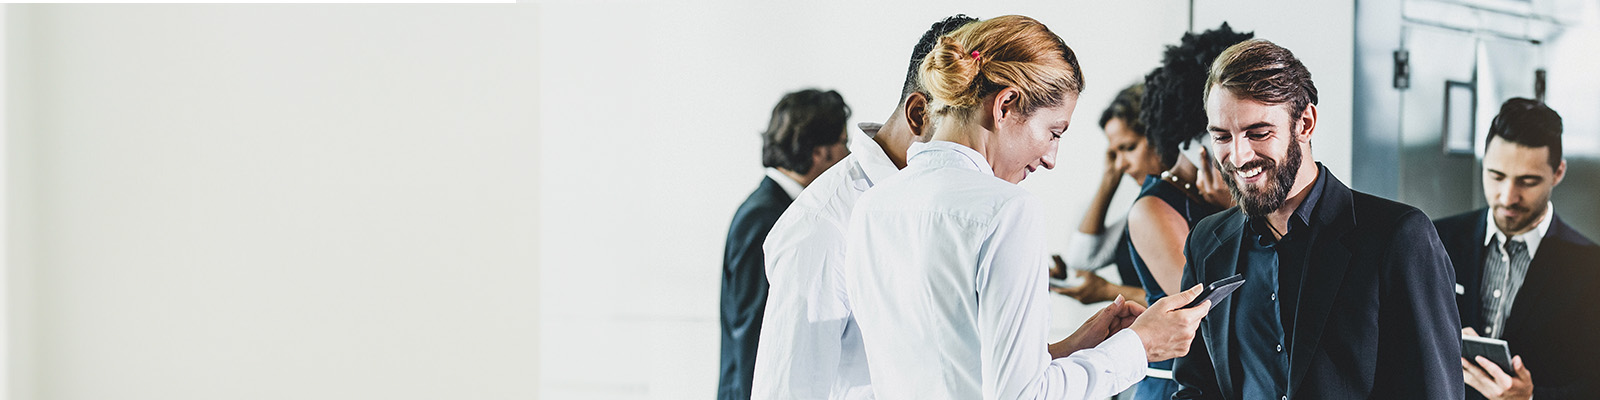
{"type": "Polygon", "coordinates": [[[1483,144],[1490,208],[1434,222],[1456,266],[1462,334],[1504,339],[1517,355],[1512,371],[1462,358],[1469,398],[1600,395],[1600,309],[1587,306],[1600,288],[1600,248],[1555,214],[1550,192],[1565,174],[1562,115],[1506,101],[1483,144]]]}

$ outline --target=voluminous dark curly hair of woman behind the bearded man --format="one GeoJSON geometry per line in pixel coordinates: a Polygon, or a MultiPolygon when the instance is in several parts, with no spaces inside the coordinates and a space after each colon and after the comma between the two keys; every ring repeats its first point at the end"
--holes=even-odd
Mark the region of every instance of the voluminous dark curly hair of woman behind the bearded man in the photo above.
{"type": "Polygon", "coordinates": [[[1227,22],[1198,35],[1184,34],[1181,45],[1166,46],[1162,66],[1144,75],[1139,122],[1163,166],[1170,168],[1178,162],[1184,142],[1206,133],[1205,82],[1211,61],[1229,46],[1253,37],[1254,32],[1234,32],[1227,22]]]}

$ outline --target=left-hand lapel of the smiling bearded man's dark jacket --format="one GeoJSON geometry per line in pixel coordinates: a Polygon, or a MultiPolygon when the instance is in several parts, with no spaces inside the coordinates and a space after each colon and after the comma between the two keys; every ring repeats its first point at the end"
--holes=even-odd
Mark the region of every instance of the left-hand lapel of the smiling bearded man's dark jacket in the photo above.
{"type": "MultiPolygon", "coordinates": [[[[1226,222],[1218,224],[1216,230],[1211,234],[1216,237],[1218,245],[1211,248],[1206,254],[1203,270],[1200,270],[1200,285],[1210,285],[1211,282],[1232,277],[1238,274],[1238,246],[1242,242],[1242,232],[1245,229],[1245,213],[1234,213],[1226,222]]],[[[1224,304],[1213,304],[1211,312],[1200,322],[1200,334],[1205,336],[1206,352],[1211,354],[1211,370],[1216,371],[1218,387],[1222,389],[1222,397],[1232,398],[1237,395],[1237,387],[1234,387],[1232,370],[1229,368],[1229,354],[1232,326],[1234,326],[1234,301],[1232,296],[1222,299],[1224,304]]]]}

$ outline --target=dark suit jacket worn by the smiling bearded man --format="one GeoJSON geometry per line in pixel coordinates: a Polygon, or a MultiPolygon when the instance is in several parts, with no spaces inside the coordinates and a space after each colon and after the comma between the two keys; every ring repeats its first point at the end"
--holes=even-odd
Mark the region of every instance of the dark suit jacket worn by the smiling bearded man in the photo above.
{"type": "MultiPolygon", "coordinates": [[[[1434,226],[1413,206],[1323,178],[1288,346],[1290,398],[1459,400],[1456,277],[1434,226]]],[[[1235,274],[1245,222],[1235,206],[1195,226],[1184,248],[1186,288],[1235,274]]],[[[1173,398],[1240,397],[1243,371],[1229,349],[1240,301],[1269,299],[1234,294],[1211,309],[1189,355],[1174,363],[1173,398]]]]}

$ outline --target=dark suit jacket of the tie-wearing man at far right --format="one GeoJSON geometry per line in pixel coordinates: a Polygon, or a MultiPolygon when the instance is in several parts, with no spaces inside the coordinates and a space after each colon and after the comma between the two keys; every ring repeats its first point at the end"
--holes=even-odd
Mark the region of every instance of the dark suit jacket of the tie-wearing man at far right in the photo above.
{"type": "MultiPolygon", "coordinates": [[[[1483,235],[1488,208],[1434,222],[1438,238],[1456,266],[1456,296],[1462,326],[1483,331],[1483,235]]],[[[1600,290],[1600,246],[1554,214],[1550,229],[1539,240],[1539,251],[1528,262],[1528,275],[1512,299],[1501,339],[1512,355],[1522,355],[1533,374],[1533,398],[1595,398],[1600,395],[1600,307],[1592,298],[1600,290]]],[[[1469,398],[1483,398],[1467,389],[1469,398]]]]}

